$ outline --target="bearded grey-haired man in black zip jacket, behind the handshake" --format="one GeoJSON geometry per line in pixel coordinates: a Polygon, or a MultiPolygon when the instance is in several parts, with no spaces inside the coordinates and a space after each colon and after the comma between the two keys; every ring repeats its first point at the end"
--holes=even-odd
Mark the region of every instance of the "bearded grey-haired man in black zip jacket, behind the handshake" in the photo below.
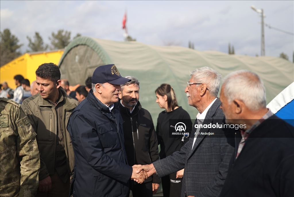
{"type": "MultiPolygon", "coordinates": [[[[141,107],[139,100],[139,81],[127,76],[131,81],[121,85],[119,93],[120,113],[123,118],[125,148],[130,166],[135,164],[151,164],[159,159],[158,143],[150,113],[141,107]]],[[[159,177],[153,174],[138,184],[132,181],[133,197],[152,197],[159,187],[159,177]]]]}

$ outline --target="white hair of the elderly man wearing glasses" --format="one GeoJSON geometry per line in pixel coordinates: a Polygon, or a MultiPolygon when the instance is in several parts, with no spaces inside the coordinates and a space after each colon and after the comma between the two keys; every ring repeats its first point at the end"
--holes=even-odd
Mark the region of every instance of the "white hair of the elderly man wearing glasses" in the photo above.
{"type": "Polygon", "coordinates": [[[208,92],[211,96],[218,96],[221,74],[215,69],[206,66],[197,68],[191,72],[191,77],[193,77],[195,83],[206,84],[208,92]]]}

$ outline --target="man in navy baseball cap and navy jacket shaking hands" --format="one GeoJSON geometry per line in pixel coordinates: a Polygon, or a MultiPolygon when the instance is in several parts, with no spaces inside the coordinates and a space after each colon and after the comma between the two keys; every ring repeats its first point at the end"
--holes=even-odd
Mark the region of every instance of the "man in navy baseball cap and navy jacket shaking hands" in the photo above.
{"type": "Polygon", "coordinates": [[[123,119],[118,94],[130,79],[121,77],[114,64],[99,66],[92,76],[92,90],[72,112],[67,129],[75,154],[74,196],[129,196],[130,179],[140,183],[147,174],[136,174],[141,165],[128,165],[123,119]]]}

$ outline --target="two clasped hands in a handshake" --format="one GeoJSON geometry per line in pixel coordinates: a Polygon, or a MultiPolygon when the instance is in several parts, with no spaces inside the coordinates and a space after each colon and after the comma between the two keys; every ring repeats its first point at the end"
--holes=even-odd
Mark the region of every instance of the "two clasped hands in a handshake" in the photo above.
{"type": "Polygon", "coordinates": [[[131,179],[137,183],[143,183],[149,176],[156,173],[153,164],[148,165],[133,165],[133,173],[131,179]]]}

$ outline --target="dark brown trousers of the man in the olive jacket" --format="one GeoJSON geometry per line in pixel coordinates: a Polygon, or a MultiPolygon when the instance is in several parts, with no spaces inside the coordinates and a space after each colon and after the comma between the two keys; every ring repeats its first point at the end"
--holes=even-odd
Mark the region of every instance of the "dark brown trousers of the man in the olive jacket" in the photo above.
{"type": "Polygon", "coordinates": [[[70,178],[68,178],[66,183],[64,183],[61,180],[57,171],[55,171],[53,175],[50,175],[50,177],[51,177],[51,183],[52,183],[51,190],[48,192],[41,192],[38,187],[37,194],[35,197],[55,197],[55,196],[68,197],[70,178]]]}

